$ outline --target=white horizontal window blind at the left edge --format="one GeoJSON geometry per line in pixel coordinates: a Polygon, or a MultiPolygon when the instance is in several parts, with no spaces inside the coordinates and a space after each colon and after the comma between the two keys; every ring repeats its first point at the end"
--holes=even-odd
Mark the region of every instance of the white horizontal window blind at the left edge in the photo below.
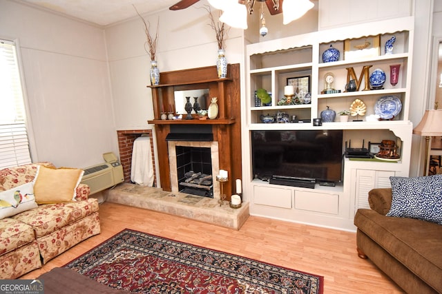
{"type": "Polygon", "coordinates": [[[0,169],[30,162],[15,43],[0,40],[0,169]]]}

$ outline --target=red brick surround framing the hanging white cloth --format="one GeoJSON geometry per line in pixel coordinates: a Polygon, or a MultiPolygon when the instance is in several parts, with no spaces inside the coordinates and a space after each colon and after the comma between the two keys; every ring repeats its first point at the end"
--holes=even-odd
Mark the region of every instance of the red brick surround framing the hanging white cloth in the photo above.
{"type": "Polygon", "coordinates": [[[153,138],[152,138],[151,129],[126,129],[123,131],[117,131],[119,160],[121,161],[123,167],[124,182],[131,182],[133,142],[135,141],[136,138],[142,135],[148,135],[151,141],[152,166],[153,166],[153,175],[154,175],[153,186],[157,187],[155,156],[153,151],[153,138]]]}

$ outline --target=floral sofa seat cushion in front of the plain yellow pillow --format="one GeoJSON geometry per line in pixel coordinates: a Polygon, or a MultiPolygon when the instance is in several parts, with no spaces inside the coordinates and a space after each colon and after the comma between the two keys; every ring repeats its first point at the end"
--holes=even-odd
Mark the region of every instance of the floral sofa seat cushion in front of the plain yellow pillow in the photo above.
{"type": "Polygon", "coordinates": [[[95,198],[77,202],[43,204],[35,209],[24,211],[12,216],[32,226],[37,238],[57,231],[66,225],[98,211],[98,201],[95,198]]]}

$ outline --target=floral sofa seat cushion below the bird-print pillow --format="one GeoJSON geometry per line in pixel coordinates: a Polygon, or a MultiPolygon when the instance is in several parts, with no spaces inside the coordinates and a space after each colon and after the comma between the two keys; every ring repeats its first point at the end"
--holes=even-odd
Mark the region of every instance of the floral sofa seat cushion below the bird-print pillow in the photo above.
{"type": "Polygon", "coordinates": [[[0,220],[0,255],[13,251],[34,240],[34,230],[28,224],[12,218],[0,220]]]}

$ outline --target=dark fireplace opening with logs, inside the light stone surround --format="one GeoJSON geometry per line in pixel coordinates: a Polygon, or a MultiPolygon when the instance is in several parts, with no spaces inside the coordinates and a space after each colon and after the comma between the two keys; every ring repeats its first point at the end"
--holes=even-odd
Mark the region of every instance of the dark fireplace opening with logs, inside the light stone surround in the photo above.
{"type": "Polygon", "coordinates": [[[175,146],[178,190],[213,198],[210,147],[175,146]]]}

